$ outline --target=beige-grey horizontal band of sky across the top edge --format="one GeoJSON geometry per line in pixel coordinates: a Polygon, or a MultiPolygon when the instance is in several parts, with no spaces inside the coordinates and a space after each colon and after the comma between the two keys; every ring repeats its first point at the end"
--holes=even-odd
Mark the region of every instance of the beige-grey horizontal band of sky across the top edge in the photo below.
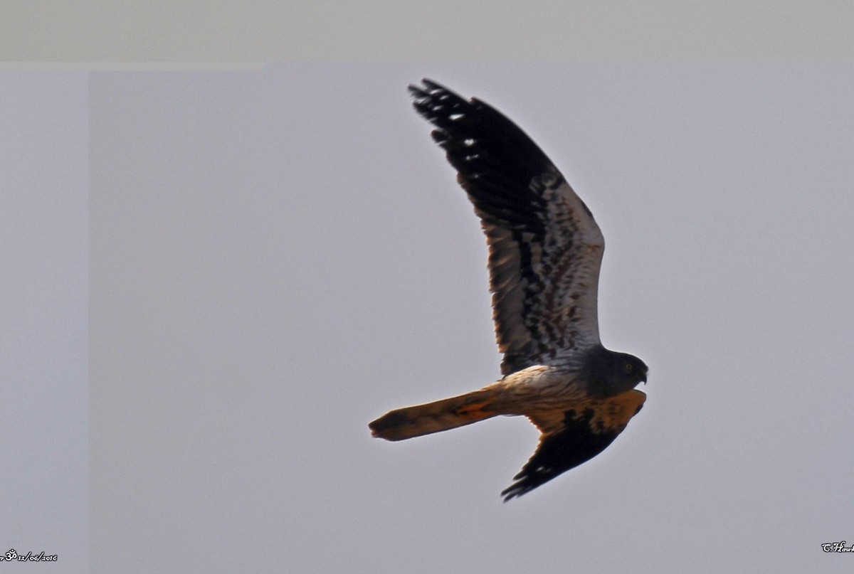
{"type": "Polygon", "coordinates": [[[828,60],[848,2],[3,0],[4,61],[828,60]]]}

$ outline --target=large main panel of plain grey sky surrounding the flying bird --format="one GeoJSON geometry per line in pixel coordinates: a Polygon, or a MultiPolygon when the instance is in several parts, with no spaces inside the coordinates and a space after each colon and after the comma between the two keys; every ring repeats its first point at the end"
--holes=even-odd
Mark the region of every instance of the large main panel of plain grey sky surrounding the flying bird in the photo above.
{"type": "Polygon", "coordinates": [[[846,65],[93,73],[92,571],[847,571],[846,65]],[[541,144],[651,367],[600,457],[518,501],[524,419],[371,439],[492,382],[486,249],[404,90],[541,144]]]}

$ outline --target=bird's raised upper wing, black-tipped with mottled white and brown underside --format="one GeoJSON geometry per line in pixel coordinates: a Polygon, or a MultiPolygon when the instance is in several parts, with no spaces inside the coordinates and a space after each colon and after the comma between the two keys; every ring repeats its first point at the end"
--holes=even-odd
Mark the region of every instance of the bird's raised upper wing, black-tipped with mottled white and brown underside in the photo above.
{"type": "MultiPolygon", "coordinates": [[[[424,79],[409,86],[436,130],[489,245],[495,338],[505,375],[600,342],[605,241],[587,206],[521,130],[486,103],[424,79]]],[[[603,447],[604,448],[604,447],[603,447]]]]}

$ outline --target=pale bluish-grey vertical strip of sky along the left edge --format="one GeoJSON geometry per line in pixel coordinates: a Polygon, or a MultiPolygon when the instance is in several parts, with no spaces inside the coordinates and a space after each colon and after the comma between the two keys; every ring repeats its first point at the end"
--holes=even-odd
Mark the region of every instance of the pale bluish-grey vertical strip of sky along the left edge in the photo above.
{"type": "Polygon", "coordinates": [[[85,572],[86,73],[0,77],[0,554],[85,572]]]}

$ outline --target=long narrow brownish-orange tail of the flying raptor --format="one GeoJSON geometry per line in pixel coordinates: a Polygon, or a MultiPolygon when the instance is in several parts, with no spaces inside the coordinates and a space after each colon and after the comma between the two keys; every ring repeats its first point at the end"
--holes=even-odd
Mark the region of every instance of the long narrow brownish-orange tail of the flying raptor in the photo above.
{"type": "Polygon", "coordinates": [[[402,441],[414,436],[471,425],[497,414],[490,389],[480,389],[442,401],[415,407],[403,407],[383,414],[368,424],[373,436],[389,441],[402,441]]]}

